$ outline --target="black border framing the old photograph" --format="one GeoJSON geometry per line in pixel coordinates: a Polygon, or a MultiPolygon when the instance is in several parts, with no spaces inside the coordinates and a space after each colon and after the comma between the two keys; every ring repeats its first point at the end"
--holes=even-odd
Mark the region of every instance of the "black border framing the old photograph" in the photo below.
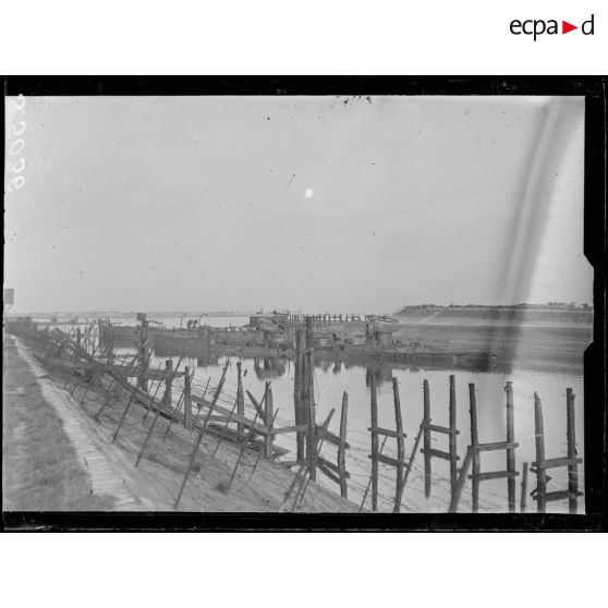
{"type": "MultiPolygon", "coordinates": [[[[5,76],[4,95],[533,95],[585,98],[584,253],[594,268],[594,342],[584,360],[585,511],[538,513],[120,513],[3,511],[7,531],[606,531],[605,76],[5,76]]],[[[4,101],[4,99],[2,100],[4,101]]]]}

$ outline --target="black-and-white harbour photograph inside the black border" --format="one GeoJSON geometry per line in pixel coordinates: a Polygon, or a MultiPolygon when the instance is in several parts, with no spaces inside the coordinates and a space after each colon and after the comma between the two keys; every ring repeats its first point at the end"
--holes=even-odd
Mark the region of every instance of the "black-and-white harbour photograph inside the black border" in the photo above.
{"type": "Polygon", "coordinates": [[[585,513],[582,95],[9,95],[4,175],[3,511],[585,513]]]}

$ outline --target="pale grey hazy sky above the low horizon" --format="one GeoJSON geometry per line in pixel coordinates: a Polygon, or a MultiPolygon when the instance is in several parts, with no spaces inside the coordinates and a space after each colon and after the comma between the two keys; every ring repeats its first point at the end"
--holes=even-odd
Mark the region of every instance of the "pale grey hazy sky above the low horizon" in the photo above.
{"type": "Polygon", "coordinates": [[[582,97],[10,99],[15,311],[592,301],[582,97]]]}

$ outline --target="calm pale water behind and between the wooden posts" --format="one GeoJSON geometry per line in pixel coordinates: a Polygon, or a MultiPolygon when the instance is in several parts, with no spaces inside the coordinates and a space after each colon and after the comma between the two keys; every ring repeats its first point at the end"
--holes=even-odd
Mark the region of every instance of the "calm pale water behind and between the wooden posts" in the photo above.
{"type": "MultiPolygon", "coordinates": [[[[126,352],[124,350],[123,352],[126,352]]],[[[179,357],[171,357],[174,365],[179,357]]],[[[153,365],[163,364],[167,357],[153,357],[153,365]]],[[[269,358],[239,358],[239,357],[184,357],[183,365],[195,369],[195,392],[202,394],[207,380],[215,386],[220,379],[223,365],[228,362],[227,381],[222,393],[222,403],[231,408],[236,391],[236,362],[242,362],[244,373],[243,384],[258,401],[264,396],[266,380],[272,387],[275,408],[279,408],[278,426],[294,424],[293,414],[293,362],[288,360],[269,358]]],[[[181,367],[181,368],[182,368],[181,367]]],[[[566,442],[566,389],[571,387],[576,396],[576,440],[579,453],[583,453],[583,376],[552,374],[547,372],[532,372],[514,369],[509,374],[474,373],[462,369],[431,369],[406,366],[381,366],[368,368],[361,365],[344,365],[324,363],[315,368],[315,401],[317,405],[317,424],[321,424],[332,408],[336,409],[329,426],[338,434],[340,425],[340,408],[342,391],[349,393],[349,425],[348,441],[351,449],[346,451],[346,467],[351,474],[349,479],[349,498],[361,503],[365,488],[369,483],[372,472],[369,405],[369,376],[376,375],[378,387],[378,423],[380,427],[394,429],[394,405],[391,378],[399,381],[401,411],[405,439],[405,455],[410,458],[419,424],[423,419],[423,380],[430,385],[430,411],[434,424],[448,426],[448,396],[449,375],[455,375],[458,404],[458,453],[464,459],[466,447],[471,441],[469,413],[469,382],[474,382],[477,390],[478,436],[481,442],[503,441],[506,439],[506,393],[507,380],[513,382],[515,440],[520,447],[515,450],[518,510],[521,497],[521,471],[524,462],[535,460],[534,441],[534,401],[533,393],[537,391],[543,400],[545,418],[545,450],[547,458],[567,454],[566,442]]],[[[175,396],[180,391],[180,382],[174,385],[175,396]]],[[[174,398],[177,399],[177,397],[174,398]]],[[[246,399],[248,414],[253,417],[255,410],[246,399]]],[[[380,443],[382,438],[380,437],[380,443]]],[[[448,450],[446,435],[431,434],[433,447],[442,451],[448,450]]],[[[285,460],[293,460],[295,454],[295,436],[279,436],[278,445],[291,451],[285,460]]],[[[422,442],[421,442],[422,447],[422,442]]],[[[396,440],[389,438],[382,451],[386,455],[397,457],[396,440]]],[[[337,449],[324,445],[323,455],[336,462],[337,449]]],[[[460,464],[459,464],[460,466],[460,464]]],[[[482,472],[503,471],[506,469],[506,452],[494,451],[482,454],[482,472]]],[[[424,494],[424,458],[415,455],[414,465],[410,474],[408,486],[403,495],[402,512],[442,512],[448,509],[450,500],[449,462],[434,458],[431,460],[433,489],[429,498],[424,494]]],[[[567,489],[567,469],[550,471],[552,479],[548,484],[548,491],[567,489]]],[[[339,493],[339,486],[318,472],[317,479],[333,491],[339,493]]],[[[379,495],[378,510],[392,511],[396,494],[397,470],[392,466],[379,464],[379,495]]],[[[536,485],[536,476],[528,475],[528,493],[536,485]]],[[[583,467],[580,466],[580,486],[584,487],[583,467]]],[[[365,507],[372,508],[370,491],[365,507]]],[[[493,479],[481,483],[479,511],[504,512],[507,503],[507,481],[493,479]]],[[[535,511],[536,503],[527,498],[527,510],[535,511]]],[[[460,512],[471,511],[471,483],[464,487],[459,504],[460,512]]],[[[547,512],[568,512],[568,501],[549,502],[547,512]]],[[[580,500],[579,512],[584,512],[583,498],[580,500]]]]}

